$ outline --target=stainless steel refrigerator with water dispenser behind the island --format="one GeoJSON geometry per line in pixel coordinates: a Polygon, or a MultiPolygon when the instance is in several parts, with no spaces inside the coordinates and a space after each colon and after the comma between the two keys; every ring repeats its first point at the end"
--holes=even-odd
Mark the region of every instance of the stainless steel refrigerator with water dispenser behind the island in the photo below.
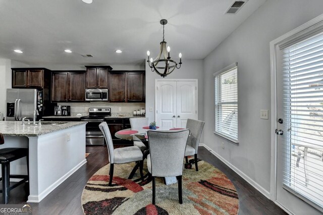
{"type": "Polygon", "coordinates": [[[36,89],[7,89],[7,117],[8,121],[19,121],[23,117],[32,119],[34,110],[42,115],[42,91],[36,89]]]}

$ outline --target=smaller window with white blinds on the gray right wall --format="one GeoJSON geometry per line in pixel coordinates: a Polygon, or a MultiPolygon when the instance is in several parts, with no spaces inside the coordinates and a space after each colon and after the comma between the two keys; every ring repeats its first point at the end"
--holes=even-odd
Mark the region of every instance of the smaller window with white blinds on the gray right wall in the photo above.
{"type": "Polygon", "coordinates": [[[214,133],[238,144],[238,77],[236,63],[215,76],[214,133]]]}

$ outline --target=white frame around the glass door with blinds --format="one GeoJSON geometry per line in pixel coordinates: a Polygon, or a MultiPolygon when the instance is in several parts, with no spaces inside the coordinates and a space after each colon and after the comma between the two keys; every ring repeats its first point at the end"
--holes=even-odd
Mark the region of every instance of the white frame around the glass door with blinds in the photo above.
{"type": "Polygon", "coordinates": [[[309,35],[321,32],[323,29],[323,14],[284,34],[270,42],[271,59],[271,187],[270,199],[288,213],[292,213],[284,205],[277,201],[277,62],[276,49],[281,44],[305,39],[309,35]]]}

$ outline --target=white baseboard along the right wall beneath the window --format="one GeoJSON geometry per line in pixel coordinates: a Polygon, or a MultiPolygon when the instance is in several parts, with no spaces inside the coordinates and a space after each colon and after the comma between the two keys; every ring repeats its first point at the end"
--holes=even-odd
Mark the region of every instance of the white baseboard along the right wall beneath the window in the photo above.
{"type": "Polygon", "coordinates": [[[226,159],[221,157],[218,153],[211,150],[208,146],[205,144],[200,144],[200,147],[204,147],[207,149],[210,153],[212,153],[214,156],[219,158],[223,163],[225,163],[228,167],[230,167],[233,171],[235,171],[239,176],[241,176],[245,181],[247,181],[251,186],[253,186],[256,190],[258,190],[262,195],[270,199],[270,192],[264,189],[262,186],[260,186],[257,182],[255,182],[253,179],[251,179],[249,176],[247,176],[245,173],[241,172],[237,167],[232,165],[230,162],[228,162],[226,159]]]}

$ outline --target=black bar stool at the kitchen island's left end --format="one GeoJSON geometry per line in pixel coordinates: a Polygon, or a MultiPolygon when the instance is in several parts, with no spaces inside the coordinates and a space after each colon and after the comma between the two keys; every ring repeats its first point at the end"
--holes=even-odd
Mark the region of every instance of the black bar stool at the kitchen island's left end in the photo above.
{"type": "MultiPolygon", "coordinates": [[[[4,136],[0,133],[0,145],[4,143],[5,143],[4,136]]],[[[7,204],[9,199],[9,191],[19,186],[20,184],[28,181],[29,179],[28,149],[24,149],[24,148],[1,149],[0,162],[1,162],[1,171],[2,171],[2,177],[0,178],[0,181],[2,181],[2,190],[0,190],[0,192],[2,192],[3,203],[7,204]],[[16,161],[23,157],[27,158],[28,175],[10,175],[10,162],[16,161]],[[19,178],[22,180],[10,186],[10,178],[19,178]]]]}

